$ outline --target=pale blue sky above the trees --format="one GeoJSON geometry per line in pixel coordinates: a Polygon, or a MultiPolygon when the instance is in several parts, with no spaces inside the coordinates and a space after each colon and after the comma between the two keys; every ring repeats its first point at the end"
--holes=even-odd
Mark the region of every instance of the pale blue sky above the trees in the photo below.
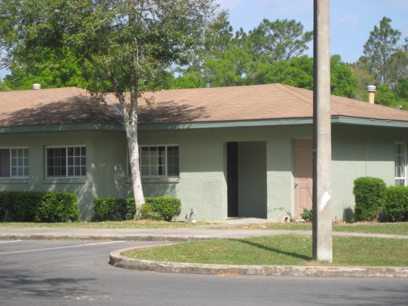
{"type": "MultiPolygon", "coordinates": [[[[305,31],[313,30],[313,0],[216,0],[229,11],[234,31],[241,27],[248,32],[264,18],[270,21],[288,19],[300,22],[305,31]]],[[[363,46],[370,31],[379,26],[382,17],[391,18],[393,29],[401,32],[401,45],[408,37],[407,0],[331,0],[330,53],[340,54],[346,63],[356,62],[363,55],[363,46]]],[[[312,44],[307,53],[312,56],[312,44]]],[[[0,70],[0,76],[6,74],[0,70]]]]}

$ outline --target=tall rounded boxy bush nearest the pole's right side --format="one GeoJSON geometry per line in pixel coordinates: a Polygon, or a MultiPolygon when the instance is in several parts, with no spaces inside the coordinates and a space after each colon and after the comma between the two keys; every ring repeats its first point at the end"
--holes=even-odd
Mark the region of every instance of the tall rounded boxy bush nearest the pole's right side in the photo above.
{"type": "Polygon", "coordinates": [[[386,202],[387,187],[382,179],[362,177],[354,180],[353,194],[356,200],[354,221],[377,220],[386,202]]]}

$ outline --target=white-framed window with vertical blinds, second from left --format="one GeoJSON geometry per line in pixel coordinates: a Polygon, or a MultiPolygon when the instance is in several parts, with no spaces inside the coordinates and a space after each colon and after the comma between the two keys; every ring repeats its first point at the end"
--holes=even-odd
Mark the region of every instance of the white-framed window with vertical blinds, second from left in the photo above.
{"type": "MultiPolygon", "coordinates": [[[[58,157],[57,157],[58,158],[58,157]]],[[[51,166],[50,166],[51,167],[51,166]]],[[[71,178],[85,178],[86,177],[86,146],[85,145],[69,145],[69,146],[46,146],[45,147],[45,174],[47,179],[71,179],[71,178]],[[49,175],[48,172],[48,150],[49,149],[65,149],[65,157],[59,157],[60,159],[65,159],[65,165],[54,165],[54,169],[61,168],[64,169],[64,175],[49,175]],[[74,149],[73,155],[68,155],[68,149],[74,149]],[[75,150],[80,149],[80,154],[76,155],[75,150]],[[85,154],[82,155],[82,149],[85,149],[85,154]],[[80,174],[75,172],[78,170],[80,174]],[[73,173],[73,174],[70,174],[73,173]]]]}

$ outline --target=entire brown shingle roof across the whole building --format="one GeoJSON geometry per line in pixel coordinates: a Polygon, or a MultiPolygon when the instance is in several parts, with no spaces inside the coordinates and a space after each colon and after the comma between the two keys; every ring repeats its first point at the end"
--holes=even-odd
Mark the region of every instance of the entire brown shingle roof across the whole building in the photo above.
{"type": "MultiPolygon", "coordinates": [[[[313,91],[282,84],[163,90],[139,102],[139,123],[224,122],[313,117],[313,91]]],[[[112,101],[117,101],[113,94],[112,101]]],[[[331,96],[334,117],[408,122],[408,111],[331,96]]],[[[72,123],[121,124],[108,105],[70,87],[0,92],[0,127],[72,123]],[[43,92],[43,97],[41,93],[43,92]]]]}

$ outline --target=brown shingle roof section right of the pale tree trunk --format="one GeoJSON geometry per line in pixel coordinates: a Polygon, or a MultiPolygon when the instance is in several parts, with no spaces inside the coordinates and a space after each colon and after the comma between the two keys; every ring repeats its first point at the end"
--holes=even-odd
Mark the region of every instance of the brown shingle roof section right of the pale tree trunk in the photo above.
{"type": "MultiPolygon", "coordinates": [[[[139,123],[313,117],[313,91],[282,84],[163,90],[153,95],[152,106],[139,104],[139,123]]],[[[331,115],[408,121],[408,111],[335,95],[331,95],[331,115]]]]}

